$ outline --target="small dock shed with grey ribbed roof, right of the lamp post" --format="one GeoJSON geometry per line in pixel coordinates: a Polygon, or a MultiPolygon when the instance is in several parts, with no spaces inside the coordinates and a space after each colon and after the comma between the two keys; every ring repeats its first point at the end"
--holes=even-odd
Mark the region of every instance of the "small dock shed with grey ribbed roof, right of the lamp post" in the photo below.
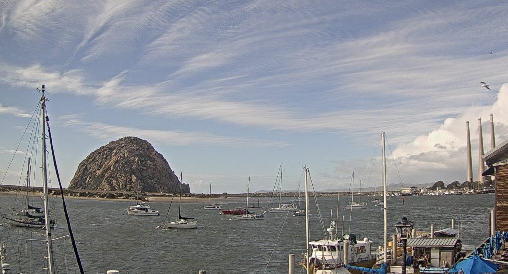
{"type": "Polygon", "coordinates": [[[450,267],[460,256],[462,241],[455,237],[409,238],[407,247],[414,251],[414,265],[450,267]]]}

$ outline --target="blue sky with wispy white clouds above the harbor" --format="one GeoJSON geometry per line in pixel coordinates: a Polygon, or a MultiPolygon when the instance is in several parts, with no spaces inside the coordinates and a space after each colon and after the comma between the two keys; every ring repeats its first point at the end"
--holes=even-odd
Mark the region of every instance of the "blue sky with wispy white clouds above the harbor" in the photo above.
{"type": "MultiPolygon", "coordinates": [[[[193,193],[478,180],[508,137],[506,1],[0,0],[0,178],[46,86],[64,187],[93,150],[150,142],[193,193]],[[480,82],[489,84],[490,90],[480,82]],[[352,180],[354,175],[354,180],[352,180]]],[[[14,153],[18,150],[17,153],[14,153]]],[[[17,155],[14,157],[14,155],[17,155]]],[[[56,187],[56,180],[51,180],[56,187]]],[[[22,183],[22,182],[21,182],[22,183]]],[[[37,183],[36,183],[37,185],[37,183]]]]}

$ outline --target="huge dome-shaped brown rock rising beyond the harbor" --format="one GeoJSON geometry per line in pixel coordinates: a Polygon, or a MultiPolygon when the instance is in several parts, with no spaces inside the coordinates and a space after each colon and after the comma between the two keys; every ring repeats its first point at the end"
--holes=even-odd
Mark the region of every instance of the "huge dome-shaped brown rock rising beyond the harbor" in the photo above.
{"type": "MultiPolygon", "coordinates": [[[[174,193],[180,182],[168,161],[150,143],[124,137],[102,146],[81,161],[69,188],[174,193]]],[[[182,193],[189,193],[182,184],[182,193]]]]}

